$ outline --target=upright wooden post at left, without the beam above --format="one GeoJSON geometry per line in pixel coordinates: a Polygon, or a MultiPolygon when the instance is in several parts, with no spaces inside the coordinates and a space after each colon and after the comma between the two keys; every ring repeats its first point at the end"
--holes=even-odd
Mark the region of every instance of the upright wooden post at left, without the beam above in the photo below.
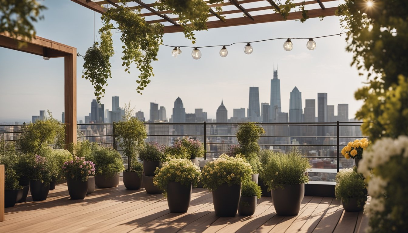
{"type": "MultiPolygon", "coordinates": [[[[66,136],[65,143],[76,143],[77,141],[77,120],[76,120],[76,53],[64,57],[65,59],[65,122],[66,136]]],[[[67,148],[69,145],[65,145],[67,148]]]]}

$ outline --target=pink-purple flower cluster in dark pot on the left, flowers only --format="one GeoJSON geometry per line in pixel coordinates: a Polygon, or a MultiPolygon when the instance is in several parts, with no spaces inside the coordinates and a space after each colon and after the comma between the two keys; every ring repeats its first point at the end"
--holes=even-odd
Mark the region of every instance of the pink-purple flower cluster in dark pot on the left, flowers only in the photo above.
{"type": "Polygon", "coordinates": [[[64,162],[62,173],[67,179],[87,181],[89,176],[95,175],[95,164],[85,161],[84,157],[75,157],[64,162]]]}

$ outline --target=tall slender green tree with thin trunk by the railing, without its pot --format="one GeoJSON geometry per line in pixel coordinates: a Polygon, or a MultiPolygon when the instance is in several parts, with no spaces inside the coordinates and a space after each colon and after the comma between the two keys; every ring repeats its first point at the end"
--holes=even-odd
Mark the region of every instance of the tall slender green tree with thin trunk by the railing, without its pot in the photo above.
{"type": "Polygon", "coordinates": [[[136,152],[144,144],[144,139],[147,138],[146,127],[144,124],[132,117],[133,109],[125,104],[125,115],[123,121],[115,123],[114,137],[119,140],[119,146],[123,149],[123,154],[128,157],[128,171],[131,171],[131,161],[135,159],[136,152]]]}

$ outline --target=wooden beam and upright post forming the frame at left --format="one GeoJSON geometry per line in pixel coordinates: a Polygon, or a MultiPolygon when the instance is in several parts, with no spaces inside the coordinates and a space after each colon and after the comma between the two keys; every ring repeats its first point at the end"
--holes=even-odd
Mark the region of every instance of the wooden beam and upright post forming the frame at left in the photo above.
{"type": "MultiPolygon", "coordinates": [[[[64,58],[64,104],[65,104],[65,143],[76,143],[77,141],[77,117],[76,117],[76,60],[77,49],[52,40],[36,36],[31,41],[25,41],[26,45],[18,46],[18,42],[8,33],[0,33],[0,47],[14,49],[26,53],[40,55],[48,58],[64,58]]],[[[42,59],[42,58],[40,58],[42,59]]]]}

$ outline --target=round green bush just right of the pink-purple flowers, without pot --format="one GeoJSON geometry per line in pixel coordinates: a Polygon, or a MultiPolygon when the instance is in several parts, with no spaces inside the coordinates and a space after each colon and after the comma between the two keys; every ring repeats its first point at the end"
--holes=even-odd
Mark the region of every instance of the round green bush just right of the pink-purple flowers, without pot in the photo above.
{"type": "Polygon", "coordinates": [[[93,158],[95,159],[95,174],[113,176],[125,169],[119,152],[112,148],[99,146],[96,151],[93,151],[93,158]]]}

